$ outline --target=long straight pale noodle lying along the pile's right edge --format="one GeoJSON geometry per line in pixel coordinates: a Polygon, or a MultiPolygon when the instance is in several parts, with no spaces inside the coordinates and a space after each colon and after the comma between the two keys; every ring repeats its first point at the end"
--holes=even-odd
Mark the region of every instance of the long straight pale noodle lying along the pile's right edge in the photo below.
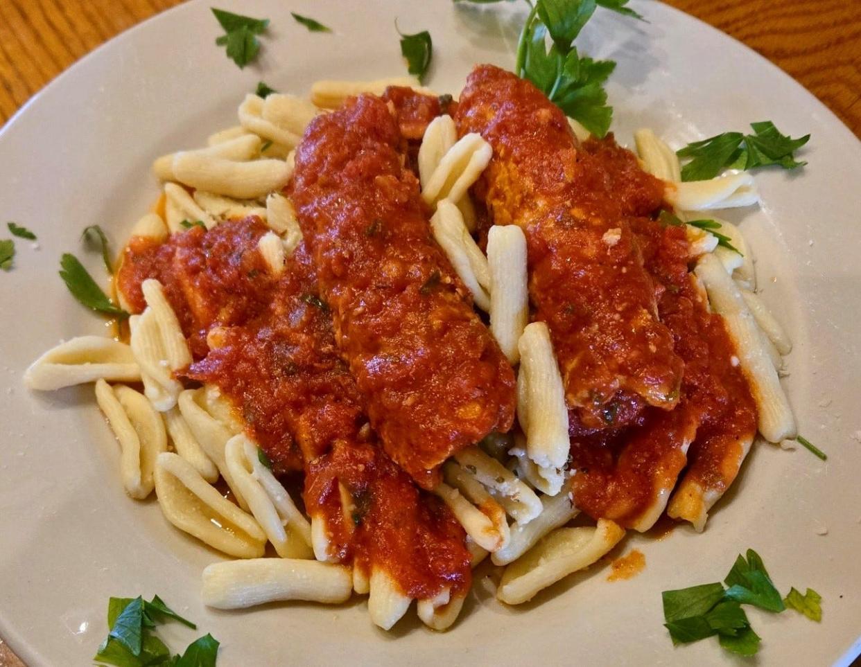
{"type": "Polygon", "coordinates": [[[789,401],[766,353],[764,337],[739,288],[714,256],[703,255],[694,270],[703,281],[712,308],[722,316],[738,350],[741,367],[757,405],[759,432],[769,442],[795,437],[796,423],[789,401]]]}

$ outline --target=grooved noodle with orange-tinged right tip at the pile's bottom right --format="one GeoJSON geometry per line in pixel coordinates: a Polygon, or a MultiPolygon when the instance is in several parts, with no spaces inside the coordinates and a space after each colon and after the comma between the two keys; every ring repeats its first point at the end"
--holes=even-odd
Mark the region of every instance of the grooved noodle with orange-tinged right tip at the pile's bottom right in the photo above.
{"type": "Polygon", "coordinates": [[[505,568],[496,596],[506,604],[528,602],[550,584],[595,563],[624,534],[624,528],[607,519],[598,519],[595,528],[557,528],[505,568]]]}

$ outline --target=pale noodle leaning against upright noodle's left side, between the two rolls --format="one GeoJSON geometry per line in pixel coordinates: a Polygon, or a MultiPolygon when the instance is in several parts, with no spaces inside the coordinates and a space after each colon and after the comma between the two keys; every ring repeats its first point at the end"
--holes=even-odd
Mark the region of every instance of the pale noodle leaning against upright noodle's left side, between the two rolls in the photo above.
{"type": "Polygon", "coordinates": [[[448,200],[440,201],[437,213],[431,217],[431,230],[449,257],[455,273],[473,294],[475,305],[483,311],[489,310],[490,296],[486,287],[490,283],[490,270],[487,259],[469,235],[460,210],[448,200]]]}

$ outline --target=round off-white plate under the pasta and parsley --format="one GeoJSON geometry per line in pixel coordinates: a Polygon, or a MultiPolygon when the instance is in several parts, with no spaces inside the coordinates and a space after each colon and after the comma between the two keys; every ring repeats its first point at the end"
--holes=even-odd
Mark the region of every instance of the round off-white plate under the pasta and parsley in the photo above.
{"type": "MultiPolygon", "coordinates": [[[[184,4],[72,67],[0,134],[0,218],[30,227],[40,244],[17,241],[15,269],[0,274],[0,635],[15,652],[31,665],[88,664],[107,632],[108,596],[158,593],[221,640],[225,665],[729,662],[715,640],[672,648],[660,591],[719,580],[753,547],[780,590],[810,586],[824,609],[821,625],[792,611],[750,611],[761,658],[851,660],[861,649],[861,145],[776,67],[659,3],[635,2],[649,23],[598,9],[581,36],[585,52],[618,61],[609,90],[620,141],[645,125],[680,145],[766,119],[813,135],[802,155],[808,167],[760,171],[763,206],[738,217],[763,296],[795,343],[786,385],[802,433],[827,451],[827,463],[801,448],[759,445],[704,534],[678,528],[661,541],[629,539],[646,554],[640,576],[608,583],[595,569],[520,608],[500,606],[479,582],[448,633],[407,620],[379,632],[358,601],[247,613],[203,607],[200,572],[218,556],[172,528],[155,503],[125,496],[92,387],[31,393],[21,385],[28,363],[59,339],[104,331],[65,291],[60,254],[85,256],[79,237],[93,223],[118,248],[157,194],[152,158],[234,124],[258,79],[302,93],[321,77],[400,75],[398,16],[405,32],[431,31],[429,84],[455,92],[476,62],[513,65],[523,20],[510,5],[448,0],[219,5],[272,19],[257,65],[239,71],[214,46],[209,3],[184,4]],[[336,34],[308,33],[289,10],[336,34]]],[[[102,275],[97,256],[86,262],[102,275]]],[[[175,648],[191,637],[167,632],[175,648]]]]}

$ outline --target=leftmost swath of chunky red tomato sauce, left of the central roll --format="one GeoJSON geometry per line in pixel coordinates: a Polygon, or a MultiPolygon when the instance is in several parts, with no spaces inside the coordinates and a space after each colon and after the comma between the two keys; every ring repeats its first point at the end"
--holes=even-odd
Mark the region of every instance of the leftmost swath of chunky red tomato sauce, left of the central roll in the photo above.
{"type": "Polygon", "coordinates": [[[466,590],[463,529],[375,443],[307,251],[276,278],[257,250],[267,231],[250,218],[164,244],[133,238],[119,287],[140,312],[140,283],[162,282],[194,349],[183,376],[220,387],[276,473],[304,469],[307,510],[325,517],[334,554],[384,568],[410,596],[466,590]],[[339,484],[356,505],[349,517],[339,484]]]}

